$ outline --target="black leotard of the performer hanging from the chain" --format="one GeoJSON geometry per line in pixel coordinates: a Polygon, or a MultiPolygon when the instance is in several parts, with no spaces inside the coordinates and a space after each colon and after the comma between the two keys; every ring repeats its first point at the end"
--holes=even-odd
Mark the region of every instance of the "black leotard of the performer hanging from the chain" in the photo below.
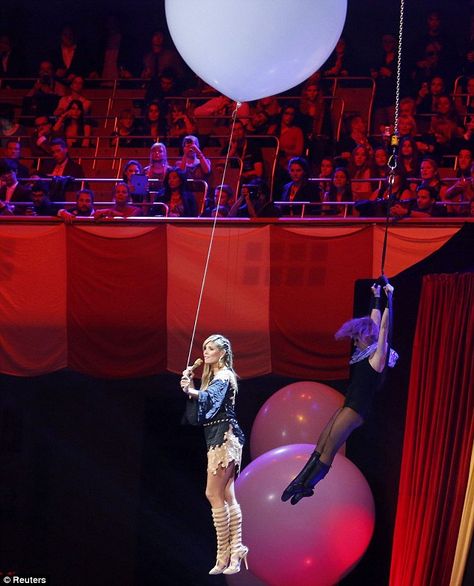
{"type": "Polygon", "coordinates": [[[382,384],[383,373],[377,372],[369,362],[369,356],[351,364],[350,383],[346,392],[344,407],[350,407],[367,418],[375,393],[382,384]]]}

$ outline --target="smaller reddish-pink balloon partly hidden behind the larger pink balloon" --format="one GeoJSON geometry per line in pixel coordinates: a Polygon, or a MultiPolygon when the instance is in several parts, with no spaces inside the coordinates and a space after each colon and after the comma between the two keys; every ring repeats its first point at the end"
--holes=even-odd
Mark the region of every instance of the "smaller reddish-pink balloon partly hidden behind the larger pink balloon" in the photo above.
{"type": "MultiPolygon", "coordinates": [[[[274,393],[261,407],[252,426],[250,453],[256,458],[288,444],[315,444],[344,396],[328,385],[293,383],[274,393]]],[[[339,450],[344,454],[344,447],[339,450]]]]}

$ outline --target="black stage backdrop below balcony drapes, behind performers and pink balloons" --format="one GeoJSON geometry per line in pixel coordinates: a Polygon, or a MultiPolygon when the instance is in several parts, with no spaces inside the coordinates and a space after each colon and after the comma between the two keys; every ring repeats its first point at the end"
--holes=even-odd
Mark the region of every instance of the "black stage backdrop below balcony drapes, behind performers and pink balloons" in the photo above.
{"type": "MultiPolygon", "coordinates": [[[[344,586],[388,583],[421,278],[472,271],[473,236],[466,224],[392,280],[400,362],[346,453],[372,488],[375,534],[344,586]]],[[[355,284],[356,315],[367,311],[369,285],[355,284]]],[[[241,381],[238,411],[247,435],[265,400],[290,382],[241,381]]],[[[113,381],[71,371],[0,377],[0,568],[46,573],[60,586],[225,583],[207,575],[215,537],[204,497],[204,440],[201,429],[180,425],[177,383],[170,374],[113,381]]],[[[344,381],[328,384],[344,388],[344,381]]],[[[249,461],[247,445],[243,465],[249,461]]]]}

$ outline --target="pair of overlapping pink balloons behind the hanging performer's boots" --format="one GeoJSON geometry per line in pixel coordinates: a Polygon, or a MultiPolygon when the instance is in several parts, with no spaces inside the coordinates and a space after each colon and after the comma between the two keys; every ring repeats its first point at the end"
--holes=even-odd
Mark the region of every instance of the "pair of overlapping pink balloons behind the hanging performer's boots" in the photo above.
{"type": "Polygon", "coordinates": [[[236,482],[250,572],[228,576],[230,586],[331,586],[363,556],[373,533],[374,502],[343,450],[313,497],[294,507],[280,499],[342,403],[343,396],[327,385],[299,382],[261,407],[250,438],[255,459],[236,482]]]}

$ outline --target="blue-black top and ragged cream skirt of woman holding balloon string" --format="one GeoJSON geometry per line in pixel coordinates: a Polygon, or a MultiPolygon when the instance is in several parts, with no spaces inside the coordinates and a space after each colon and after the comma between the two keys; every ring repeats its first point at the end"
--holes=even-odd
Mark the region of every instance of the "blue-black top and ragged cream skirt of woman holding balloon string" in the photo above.
{"type": "Polygon", "coordinates": [[[207,469],[216,474],[233,461],[238,472],[245,436],[235,415],[237,385],[232,374],[215,378],[199,391],[198,421],[204,427],[207,445],[207,469]]]}

